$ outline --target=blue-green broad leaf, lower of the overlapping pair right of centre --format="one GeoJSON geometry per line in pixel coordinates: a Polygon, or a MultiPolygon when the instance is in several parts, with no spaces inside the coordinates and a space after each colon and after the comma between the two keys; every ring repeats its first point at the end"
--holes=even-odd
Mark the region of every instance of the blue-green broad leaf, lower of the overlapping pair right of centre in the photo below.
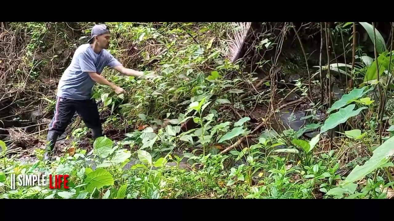
{"type": "Polygon", "coordinates": [[[356,105],[351,104],[345,108],[339,109],[338,112],[331,114],[327,120],[325,120],[324,125],[320,129],[320,133],[324,133],[329,129],[333,129],[341,123],[345,123],[349,118],[358,115],[361,110],[367,109],[367,107],[360,107],[357,110],[353,110],[356,105]]]}

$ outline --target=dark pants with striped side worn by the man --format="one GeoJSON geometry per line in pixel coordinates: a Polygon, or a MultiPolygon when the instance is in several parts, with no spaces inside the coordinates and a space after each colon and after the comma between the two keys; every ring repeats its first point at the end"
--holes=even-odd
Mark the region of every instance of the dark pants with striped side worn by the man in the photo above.
{"type": "Polygon", "coordinates": [[[60,97],[56,101],[55,115],[50,122],[49,131],[53,131],[59,136],[63,134],[71,123],[75,112],[78,113],[88,128],[101,131],[99,110],[94,99],[71,100],[60,97]]]}

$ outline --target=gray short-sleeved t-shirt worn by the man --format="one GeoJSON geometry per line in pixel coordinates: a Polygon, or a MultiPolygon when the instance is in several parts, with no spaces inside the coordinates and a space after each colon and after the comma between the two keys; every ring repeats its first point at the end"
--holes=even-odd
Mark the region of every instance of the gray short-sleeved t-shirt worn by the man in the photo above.
{"type": "Polygon", "coordinates": [[[72,56],[69,67],[64,71],[58,85],[58,97],[72,100],[85,100],[92,97],[95,81],[87,72],[101,74],[104,67],[114,68],[122,65],[107,50],[100,54],[93,51],[90,44],[82,44],[72,56]]]}

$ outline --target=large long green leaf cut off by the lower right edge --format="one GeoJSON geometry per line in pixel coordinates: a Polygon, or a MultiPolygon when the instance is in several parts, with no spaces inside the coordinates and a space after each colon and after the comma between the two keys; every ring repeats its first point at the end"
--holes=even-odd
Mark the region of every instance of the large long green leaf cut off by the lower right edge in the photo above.
{"type": "Polygon", "coordinates": [[[372,157],[364,163],[364,165],[357,165],[346,177],[340,186],[351,184],[357,180],[362,179],[366,175],[372,173],[375,169],[380,168],[387,163],[388,159],[394,155],[394,137],[386,140],[382,145],[377,147],[372,152],[372,157]]]}

